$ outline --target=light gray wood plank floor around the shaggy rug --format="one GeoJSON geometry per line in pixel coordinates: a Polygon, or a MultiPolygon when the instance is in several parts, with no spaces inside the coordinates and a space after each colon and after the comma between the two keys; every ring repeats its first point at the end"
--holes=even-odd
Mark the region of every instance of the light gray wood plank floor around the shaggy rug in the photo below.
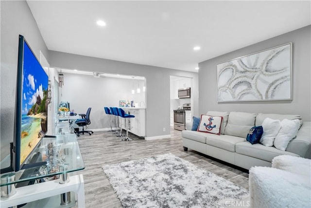
{"type": "Polygon", "coordinates": [[[168,152],[248,189],[247,172],[219,163],[199,152],[190,149],[184,151],[180,131],[171,129],[171,138],[152,141],[146,141],[133,134],[130,134],[130,137],[134,140],[120,141],[114,132],[94,132],[91,136],[85,134],[78,137],[86,166],[85,170],[78,172],[84,177],[86,208],[121,207],[121,202],[102,166],[168,152]]]}

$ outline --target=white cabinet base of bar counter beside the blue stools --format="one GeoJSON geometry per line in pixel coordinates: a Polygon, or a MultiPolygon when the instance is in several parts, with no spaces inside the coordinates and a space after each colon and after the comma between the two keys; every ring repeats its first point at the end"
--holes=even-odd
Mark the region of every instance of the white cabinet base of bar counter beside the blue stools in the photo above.
{"type": "MultiPolygon", "coordinates": [[[[138,136],[146,135],[146,109],[145,108],[122,108],[125,112],[131,115],[135,115],[134,118],[128,118],[129,132],[138,136]]],[[[122,120],[124,125],[122,128],[126,128],[125,119],[122,120]]]]}

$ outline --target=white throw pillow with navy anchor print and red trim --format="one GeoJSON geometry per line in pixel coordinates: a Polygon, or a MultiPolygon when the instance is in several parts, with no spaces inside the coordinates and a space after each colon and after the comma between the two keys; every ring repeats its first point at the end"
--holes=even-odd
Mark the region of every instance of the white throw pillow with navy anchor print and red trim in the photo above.
{"type": "Polygon", "coordinates": [[[198,132],[215,133],[220,135],[220,125],[223,116],[201,115],[200,125],[198,132]]]}

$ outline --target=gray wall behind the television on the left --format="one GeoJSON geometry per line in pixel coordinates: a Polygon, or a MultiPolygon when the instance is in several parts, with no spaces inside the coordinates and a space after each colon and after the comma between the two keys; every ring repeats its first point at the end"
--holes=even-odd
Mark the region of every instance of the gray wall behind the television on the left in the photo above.
{"type": "Polygon", "coordinates": [[[0,9],[0,158],[3,159],[9,154],[10,142],[13,142],[14,137],[18,35],[26,38],[38,59],[41,51],[49,60],[49,53],[26,1],[1,0],[0,9]]]}

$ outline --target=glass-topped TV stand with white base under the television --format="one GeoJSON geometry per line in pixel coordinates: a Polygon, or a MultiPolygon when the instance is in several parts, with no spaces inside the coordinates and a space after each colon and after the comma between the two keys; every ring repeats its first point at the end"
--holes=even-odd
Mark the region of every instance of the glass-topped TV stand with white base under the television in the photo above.
{"type": "MultiPolygon", "coordinates": [[[[57,135],[56,138],[43,138],[41,140],[40,146],[37,147],[34,151],[34,154],[36,153],[39,153],[41,155],[41,158],[39,158],[40,160],[47,161],[47,165],[13,172],[15,173],[15,181],[9,183],[2,183],[1,181],[0,186],[2,187],[42,178],[46,179],[51,176],[67,174],[69,172],[83,170],[85,168],[77,137],[75,134],[57,135]],[[53,148],[52,150],[54,154],[51,154],[51,146],[53,148]],[[61,169],[61,167],[64,166],[66,166],[66,169],[61,169]],[[28,172],[27,175],[25,175],[25,172],[28,172]],[[33,172],[34,174],[31,174],[31,172],[33,172]]],[[[1,176],[3,176],[4,174],[1,174],[1,176]]],[[[16,194],[8,198],[0,198],[1,208],[13,207],[19,204],[34,202],[35,200],[39,199],[49,200],[49,198],[47,197],[52,197],[55,195],[58,195],[59,201],[56,201],[56,204],[58,204],[59,206],[59,194],[69,191],[74,191],[76,193],[78,208],[85,207],[83,175],[74,175],[71,176],[69,179],[70,181],[65,184],[60,184],[60,179],[57,179],[50,180],[44,183],[16,188],[16,194]]],[[[53,207],[50,204],[48,204],[47,206],[53,207]]],[[[73,206],[75,206],[75,202],[73,206]]]]}

